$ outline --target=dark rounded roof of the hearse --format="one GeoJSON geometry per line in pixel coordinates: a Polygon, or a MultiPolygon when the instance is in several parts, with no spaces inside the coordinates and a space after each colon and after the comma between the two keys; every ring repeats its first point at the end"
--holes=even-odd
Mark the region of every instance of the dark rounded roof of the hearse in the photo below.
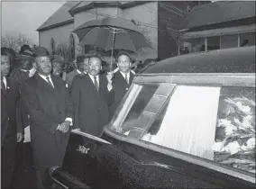
{"type": "Polygon", "coordinates": [[[167,58],[140,74],[255,73],[255,46],[217,49],[167,58]]]}

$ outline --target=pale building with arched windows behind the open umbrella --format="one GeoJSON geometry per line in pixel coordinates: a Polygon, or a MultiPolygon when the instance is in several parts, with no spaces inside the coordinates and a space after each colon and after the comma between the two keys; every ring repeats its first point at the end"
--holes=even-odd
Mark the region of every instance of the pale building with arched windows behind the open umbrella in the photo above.
{"type": "Polygon", "coordinates": [[[142,50],[140,58],[158,57],[158,3],[150,1],[66,2],[37,29],[40,45],[52,54],[68,46],[69,59],[75,59],[80,53],[88,53],[90,46],[78,46],[78,36],[71,31],[82,23],[104,17],[133,20],[151,43],[151,49],[142,50]]]}

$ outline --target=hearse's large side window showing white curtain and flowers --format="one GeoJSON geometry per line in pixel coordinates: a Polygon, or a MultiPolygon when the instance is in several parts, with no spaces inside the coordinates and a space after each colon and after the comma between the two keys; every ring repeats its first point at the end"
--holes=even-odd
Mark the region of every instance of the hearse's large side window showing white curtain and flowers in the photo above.
{"type": "Polygon", "coordinates": [[[255,174],[255,89],[178,85],[142,140],[255,174]]]}

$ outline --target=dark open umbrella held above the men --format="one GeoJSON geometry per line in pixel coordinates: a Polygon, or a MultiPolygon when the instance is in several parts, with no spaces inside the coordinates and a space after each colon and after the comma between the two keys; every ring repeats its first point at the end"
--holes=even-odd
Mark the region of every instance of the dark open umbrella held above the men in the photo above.
{"type": "Polygon", "coordinates": [[[121,18],[106,17],[78,26],[73,32],[80,43],[95,45],[105,51],[111,50],[111,67],[114,49],[127,49],[136,52],[143,47],[150,47],[147,39],[136,24],[121,18]]]}

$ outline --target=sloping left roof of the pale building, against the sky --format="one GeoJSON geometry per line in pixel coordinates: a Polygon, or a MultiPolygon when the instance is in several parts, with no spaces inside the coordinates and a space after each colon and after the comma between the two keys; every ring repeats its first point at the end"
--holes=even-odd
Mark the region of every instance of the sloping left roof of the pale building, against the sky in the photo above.
{"type": "Polygon", "coordinates": [[[69,14],[69,10],[78,3],[78,1],[69,1],[61,5],[50,18],[41,24],[37,31],[47,30],[54,26],[73,22],[74,18],[69,14]]]}

